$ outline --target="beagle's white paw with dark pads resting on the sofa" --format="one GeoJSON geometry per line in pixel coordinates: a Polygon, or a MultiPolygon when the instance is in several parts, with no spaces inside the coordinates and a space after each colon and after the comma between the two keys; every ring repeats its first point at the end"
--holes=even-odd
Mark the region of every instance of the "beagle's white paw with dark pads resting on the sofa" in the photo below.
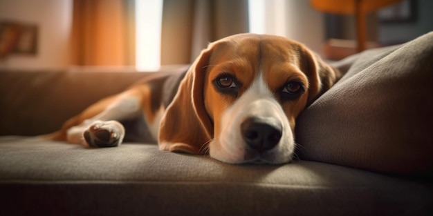
{"type": "Polygon", "coordinates": [[[83,135],[90,147],[116,147],[122,144],[125,128],[118,121],[95,121],[83,135]]]}

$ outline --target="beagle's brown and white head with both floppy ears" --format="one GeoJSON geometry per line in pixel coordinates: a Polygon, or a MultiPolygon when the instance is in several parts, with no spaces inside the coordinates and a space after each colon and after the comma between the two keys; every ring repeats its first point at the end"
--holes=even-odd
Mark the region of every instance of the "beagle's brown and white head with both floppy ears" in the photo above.
{"type": "Polygon", "coordinates": [[[188,70],[160,124],[161,150],[282,164],[295,119],[340,78],[305,46],[242,34],[211,43],[188,70]]]}

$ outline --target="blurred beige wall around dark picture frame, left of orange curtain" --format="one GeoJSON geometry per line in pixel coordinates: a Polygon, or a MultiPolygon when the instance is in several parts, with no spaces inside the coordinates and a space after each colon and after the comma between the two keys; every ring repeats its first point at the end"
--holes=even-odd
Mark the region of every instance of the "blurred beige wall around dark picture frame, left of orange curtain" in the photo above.
{"type": "MultiPolygon", "coordinates": [[[[64,68],[69,64],[73,0],[0,0],[0,23],[37,27],[37,53],[0,59],[1,68],[64,68]]],[[[6,25],[6,24],[5,24],[6,25]]],[[[4,25],[3,25],[4,26],[4,25]]],[[[0,32],[0,44],[8,33],[0,32]]],[[[2,48],[6,49],[6,48],[2,48]]]]}

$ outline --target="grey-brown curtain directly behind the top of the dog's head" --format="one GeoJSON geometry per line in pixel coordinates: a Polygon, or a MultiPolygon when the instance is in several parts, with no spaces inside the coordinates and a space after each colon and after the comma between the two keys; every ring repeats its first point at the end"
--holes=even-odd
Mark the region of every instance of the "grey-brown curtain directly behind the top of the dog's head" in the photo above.
{"type": "Polygon", "coordinates": [[[248,0],[164,0],[161,64],[191,63],[209,42],[248,32],[248,0]]]}

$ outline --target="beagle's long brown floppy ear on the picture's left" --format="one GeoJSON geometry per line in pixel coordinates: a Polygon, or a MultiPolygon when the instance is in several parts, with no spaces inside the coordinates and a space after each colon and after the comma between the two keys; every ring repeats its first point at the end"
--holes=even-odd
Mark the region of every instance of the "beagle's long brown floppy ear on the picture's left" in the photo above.
{"type": "Polygon", "coordinates": [[[202,146],[212,139],[213,126],[203,99],[205,66],[208,66],[211,53],[212,45],[201,52],[167,107],[159,128],[160,150],[200,154],[202,146]]]}

